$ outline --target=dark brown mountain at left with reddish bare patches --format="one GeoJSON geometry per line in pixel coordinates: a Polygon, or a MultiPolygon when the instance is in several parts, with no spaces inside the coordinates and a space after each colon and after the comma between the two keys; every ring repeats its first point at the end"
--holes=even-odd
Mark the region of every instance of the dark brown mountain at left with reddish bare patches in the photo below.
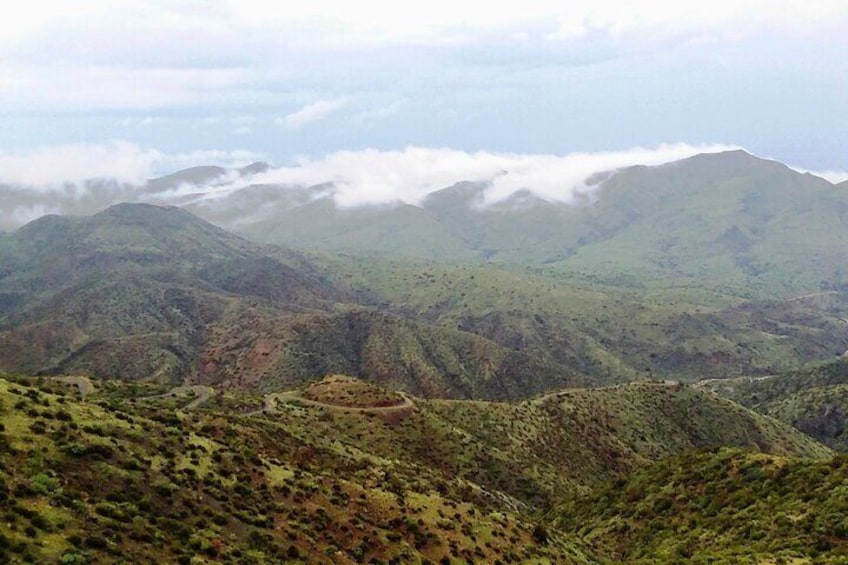
{"type": "Polygon", "coordinates": [[[518,398],[585,375],[363,306],[314,263],[179,208],[47,216],[0,239],[0,367],[271,390],[331,372],[518,398]]]}

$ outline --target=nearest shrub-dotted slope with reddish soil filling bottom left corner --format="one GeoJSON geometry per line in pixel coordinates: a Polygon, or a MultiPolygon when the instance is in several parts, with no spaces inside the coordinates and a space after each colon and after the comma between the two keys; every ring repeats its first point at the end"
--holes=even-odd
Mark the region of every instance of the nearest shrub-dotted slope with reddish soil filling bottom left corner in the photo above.
{"type": "Polygon", "coordinates": [[[0,380],[12,562],[587,561],[471,483],[319,435],[320,409],[287,422],[57,392],[0,380]]]}

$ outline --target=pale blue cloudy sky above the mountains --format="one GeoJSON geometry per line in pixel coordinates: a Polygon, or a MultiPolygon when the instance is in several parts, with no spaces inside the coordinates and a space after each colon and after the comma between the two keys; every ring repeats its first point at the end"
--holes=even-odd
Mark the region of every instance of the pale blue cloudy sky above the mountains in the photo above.
{"type": "Polygon", "coordinates": [[[391,192],[433,155],[638,164],[681,147],[848,178],[845,0],[500,4],[19,3],[0,21],[0,182],[254,160],[361,173],[401,154],[400,177],[376,166],[391,192]]]}

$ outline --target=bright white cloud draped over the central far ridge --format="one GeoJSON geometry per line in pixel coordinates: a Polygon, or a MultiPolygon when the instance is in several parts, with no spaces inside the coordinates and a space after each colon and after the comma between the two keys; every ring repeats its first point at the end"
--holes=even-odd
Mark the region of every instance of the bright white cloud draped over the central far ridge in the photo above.
{"type": "MultiPolygon", "coordinates": [[[[485,203],[527,189],[553,201],[572,202],[592,190],[592,174],[631,165],[659,165],[698,153],[737,149],[730,145],[661,145],[655,149],[572,153],[563,156],[518,153],[469,153],[454,149],[407,147],[402,151],[338,151],[293,166],[273,169],[250,182],[288,186],[332,183],[342,208],[406,202],[418,204],[428,194],[461,181],[489,184],[485,203]]],[[[220,187],[232,191],[237,187],[220,187]]]]}

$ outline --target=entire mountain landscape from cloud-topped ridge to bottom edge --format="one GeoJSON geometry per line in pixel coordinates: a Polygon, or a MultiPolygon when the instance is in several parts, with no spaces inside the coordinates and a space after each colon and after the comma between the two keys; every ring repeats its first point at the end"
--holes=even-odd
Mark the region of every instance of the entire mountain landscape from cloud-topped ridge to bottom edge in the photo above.
{"type": "Polygon", "coordinates": [[[268,170],[0,189],[0,562],[844,561],[844,183],[268,170]]]}

